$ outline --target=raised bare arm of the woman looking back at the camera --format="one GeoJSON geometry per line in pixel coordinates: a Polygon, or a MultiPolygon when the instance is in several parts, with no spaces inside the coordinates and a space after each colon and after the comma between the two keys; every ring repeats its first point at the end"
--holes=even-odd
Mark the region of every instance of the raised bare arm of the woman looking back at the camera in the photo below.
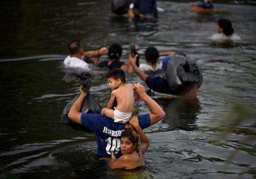
{"type": "Polygon", "coordinates": [[[129,120],[129,123],[138,132],[140,142],[141,142],[141,144],[138,145],[138,149],[139,149],[139,151],[141,151],[144,154],[149,147],[149,139],[146,136],[146,134],[143,132],[142,128],[139,126],[139,121],[138,121],[137,116],[132,116],[129,120]]]}

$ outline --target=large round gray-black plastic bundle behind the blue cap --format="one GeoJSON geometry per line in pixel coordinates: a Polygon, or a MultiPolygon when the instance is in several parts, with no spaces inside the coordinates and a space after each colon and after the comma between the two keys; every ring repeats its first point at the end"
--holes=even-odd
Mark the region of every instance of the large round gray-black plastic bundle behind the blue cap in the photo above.
{"type": "Polygon", "coordinates": [[[169,87],[179,91],[183,86],[196,82],[197,88],[203,83],[200,65],[190,56],[175,55],[168,63],[166,79],[169,87]]]}

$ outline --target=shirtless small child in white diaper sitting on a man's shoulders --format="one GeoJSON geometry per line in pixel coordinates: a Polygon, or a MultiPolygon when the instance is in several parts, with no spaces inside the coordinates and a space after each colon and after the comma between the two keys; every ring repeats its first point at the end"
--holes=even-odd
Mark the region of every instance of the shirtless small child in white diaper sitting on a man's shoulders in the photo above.
{"type": "Polygon", "coordinates": [[[112,89],[107,108],[103,108],[101,114],[114,120],[118,123],[126,123],[129,121],[133,106],[133,85],[125,84],[125,73],[119,68],[113,68],[106,74],[108,86],[112,89]],[[117,99],[117,107],[111,109],[115,98],[117,99]]]}

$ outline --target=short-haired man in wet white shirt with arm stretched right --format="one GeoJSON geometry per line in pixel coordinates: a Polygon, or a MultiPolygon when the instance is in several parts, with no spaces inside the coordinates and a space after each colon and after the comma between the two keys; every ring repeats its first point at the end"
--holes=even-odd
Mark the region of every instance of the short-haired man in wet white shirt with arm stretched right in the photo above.
{"type": "Polygon", "coordinates": [[[84,52],[80,41],[73,40],[68,44],[70,55],[64,60],[64,65],[73,68],[89,69],[89,64],[85,61],[94,58],[94,64],[97,65],[101,55],[108,52],[106,47],[99,50],[84,52]]]}

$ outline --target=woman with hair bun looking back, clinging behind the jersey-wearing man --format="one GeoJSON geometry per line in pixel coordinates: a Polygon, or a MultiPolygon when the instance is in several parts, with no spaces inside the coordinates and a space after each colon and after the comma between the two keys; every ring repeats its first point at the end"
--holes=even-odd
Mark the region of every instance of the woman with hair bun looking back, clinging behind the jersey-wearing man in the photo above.
{"type": "Polygon", "coordinates": [[[111,150],[111,160],[108,163],[111,169],[134,169],[145,165],[143,154],[148,149],[149,140],[140,128],[136,116],[131,117],[129,123],[136,129],[139,137],[131,125],[125,126],[120,139],[120,149],[123,155],[116,159],[111,150]],[[138,144],[139,138],[141,144],[138,144]]]}

